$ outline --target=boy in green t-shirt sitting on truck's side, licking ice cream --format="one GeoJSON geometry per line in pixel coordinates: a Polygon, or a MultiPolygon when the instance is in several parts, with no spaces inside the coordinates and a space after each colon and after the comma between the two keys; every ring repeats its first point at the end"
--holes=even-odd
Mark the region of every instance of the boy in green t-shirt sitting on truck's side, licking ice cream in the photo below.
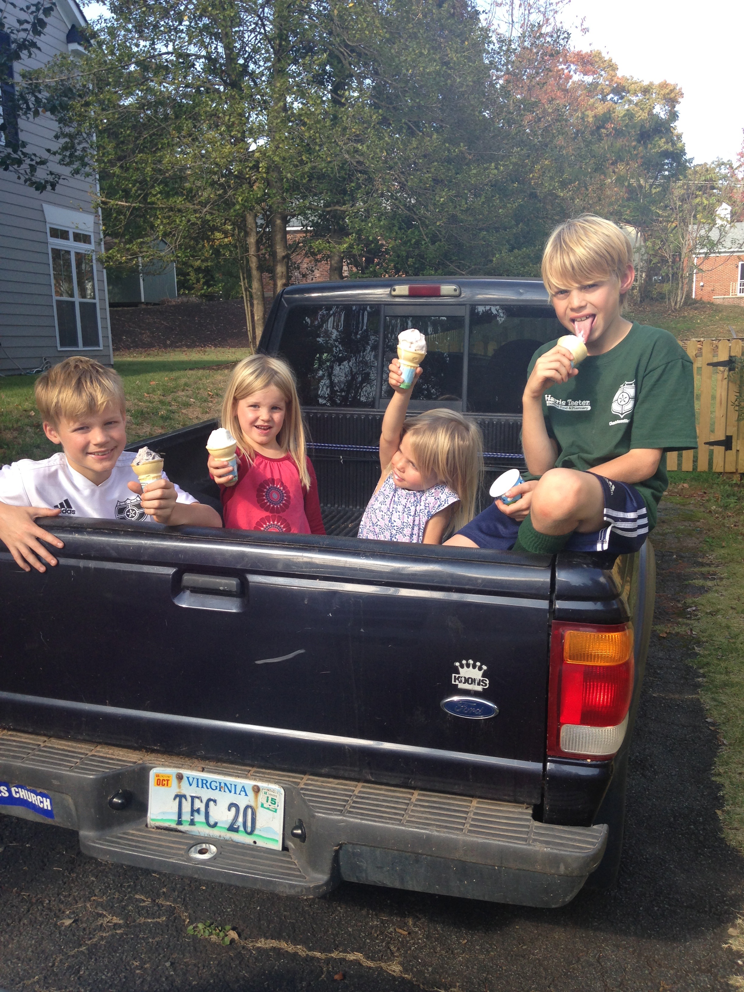
{"type": "Polygon", "coordinates": [[[543,280],[560,323],[586,344],[576,368],[557,341],[530,362],[522,444],[531,476],[447,545],[535,554],[637,551],[669,484],[665,451],[697,446],[692,363],[666,330],[622,316],[633,252],[609,220],[560,224],[543,280]]]}

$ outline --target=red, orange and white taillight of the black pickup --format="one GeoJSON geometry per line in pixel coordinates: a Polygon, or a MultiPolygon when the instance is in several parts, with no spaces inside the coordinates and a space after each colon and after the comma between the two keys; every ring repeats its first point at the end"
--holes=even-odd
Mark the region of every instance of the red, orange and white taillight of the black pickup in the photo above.
{"type": "Polygon", "coordinates": [[[554,623],[548,753],[607,758],[625,736],[633,695],[633,628],[554,623]]]}

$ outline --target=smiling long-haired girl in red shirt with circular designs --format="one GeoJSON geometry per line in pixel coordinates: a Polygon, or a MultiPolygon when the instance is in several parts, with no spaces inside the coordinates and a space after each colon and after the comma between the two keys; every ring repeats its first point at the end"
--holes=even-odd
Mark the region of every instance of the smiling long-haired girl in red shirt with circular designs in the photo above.
{"type": "Polygon", "coordinates": [[[229,462],[211,454],[207,461],[220,488],[225,527],[325,534],[290,366],[269,355],[238,362],[222,401],[221,426],[238,442],[237,483],[229,462]]]}

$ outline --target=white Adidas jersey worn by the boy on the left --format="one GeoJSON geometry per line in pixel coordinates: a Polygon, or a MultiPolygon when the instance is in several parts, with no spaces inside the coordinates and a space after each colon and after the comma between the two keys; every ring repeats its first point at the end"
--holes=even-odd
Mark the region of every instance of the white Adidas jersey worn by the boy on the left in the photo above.
{"type": "MultiPolygon", "coordinates": [[[[134,451],[122,452],[109,477],[99,486],[71,468],[63,451],[42,461],[14,461],[0,469],[0,503],[59,509],[62,517],[155,523],[142,509],[137,493],[127,488],[127,482],[138,481],[132,470],[134,457],[134,451]]],[[[179,503],[198,503],[178,486],[176,492],[179,503]]]]}

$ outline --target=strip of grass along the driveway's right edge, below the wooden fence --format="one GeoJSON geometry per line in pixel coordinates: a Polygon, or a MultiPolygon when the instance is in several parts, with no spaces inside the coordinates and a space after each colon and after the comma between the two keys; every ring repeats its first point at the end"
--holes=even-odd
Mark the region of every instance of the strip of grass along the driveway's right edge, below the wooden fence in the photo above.
{"type": "Polygon", "coordinates": [[[744,852],[744,483],[713,472],[670,472],[670,482],[652,541],[683,554],[690,594],[676,622],[657,632],[696,653],[700,694],[720,742],[721,824],[744,852]]]}

